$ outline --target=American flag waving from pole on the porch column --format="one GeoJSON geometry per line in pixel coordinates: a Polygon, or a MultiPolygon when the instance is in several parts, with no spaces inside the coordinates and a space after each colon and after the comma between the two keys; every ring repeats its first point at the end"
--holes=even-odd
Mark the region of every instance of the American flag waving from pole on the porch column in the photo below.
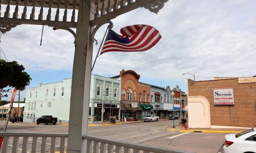
{"type": "Polygon", "coordinates": [[[161,39],[159,31],[150,25],[130,25],[122,28],[120,32],[122,36],[109,30],[101,54],[106,52],[142,52],[151,49],[161,39]]]}

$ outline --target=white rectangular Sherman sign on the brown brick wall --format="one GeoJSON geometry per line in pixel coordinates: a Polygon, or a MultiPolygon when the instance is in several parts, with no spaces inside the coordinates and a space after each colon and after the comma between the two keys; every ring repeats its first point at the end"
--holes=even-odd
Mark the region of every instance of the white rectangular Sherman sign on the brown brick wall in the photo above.
{"type": "Polygon", "coordinates": [[[233,89],[216,89],[214,90],[215,105],[233,105],[234,93],[233,89]]]}

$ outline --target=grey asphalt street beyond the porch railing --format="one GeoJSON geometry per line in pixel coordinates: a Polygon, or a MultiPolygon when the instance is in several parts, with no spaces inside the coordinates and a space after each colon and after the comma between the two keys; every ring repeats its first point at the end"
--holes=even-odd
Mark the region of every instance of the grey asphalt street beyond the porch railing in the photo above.
{"type": "MultiPolygon", "coordinates": [[[[175,121],[176,125],[179,121],[175,121]]],[[[0,122],[0,130],[4,122],[0,122]]],[[[9,123],[6,132],[67,133],[67,125],[36,125],[35,123],[9,123]]],[[[172,121],[140,122],[122,125],[89,126],[88,134],[102,138],[173,148],[189,152],[216,153],[227,133],[172,132],[172,121]]],[[[38,139],[40,141],[40,139],[38,139]]],[[[20,140],[22,141],[22,140],[20,140]]],[[[12,142],[12,140],[10,140],[12,142]]],[[[32,141],[29,140],[29,144],[32,141]]],[[[48,145],[51,140],[47,141],[48,145]]],[[[59,140],[56,140],[59,144],[59,140]]],[[[20,147],[21,148],[21,147],[20,147]]],[[[30,147],[29,147],[30,148],[30,147]]],[[[58,148],[58,146],[56,147],[58,148]]],[[[29,150],[31,151],[31,149],[29,150]]]]}

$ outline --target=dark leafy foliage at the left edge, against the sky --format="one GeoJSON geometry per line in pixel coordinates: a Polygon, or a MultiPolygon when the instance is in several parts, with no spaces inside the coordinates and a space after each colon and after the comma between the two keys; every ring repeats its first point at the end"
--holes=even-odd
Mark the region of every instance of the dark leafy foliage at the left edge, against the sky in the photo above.
{"type": "Polygon", "coordinates": [[[24,90],[30,84],[30,75],[24,70],[24,66],[17,61],[6,62],[0,59],[0,100],[7,97],[8,88],[24,90]]]}

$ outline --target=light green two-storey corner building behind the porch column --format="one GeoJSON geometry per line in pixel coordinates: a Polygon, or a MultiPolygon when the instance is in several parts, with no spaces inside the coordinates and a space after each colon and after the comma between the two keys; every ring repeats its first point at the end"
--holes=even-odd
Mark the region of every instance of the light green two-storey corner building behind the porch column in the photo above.
{"type": "MultiPolygon", "coordinates": [[[[72,79],[42,84],[26,90],[24,122],[35,122],[42,115],[52,115],[58,122],[69,122],[72,79]]],[[[91,75],[89,122],[120,121],[120,80],[91,75]],[[103,114],[102,112],[103,104],[103,114]]]]}

